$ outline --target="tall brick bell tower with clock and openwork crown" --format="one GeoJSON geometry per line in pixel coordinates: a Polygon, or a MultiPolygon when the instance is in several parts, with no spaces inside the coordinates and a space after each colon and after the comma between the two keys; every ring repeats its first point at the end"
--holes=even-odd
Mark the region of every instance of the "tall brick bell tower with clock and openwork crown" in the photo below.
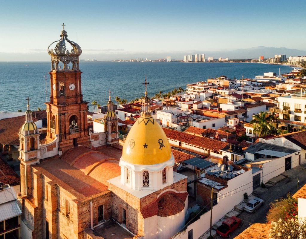
{"type": "MultiPolygon", "coordinates": [[[[48,54],[51,56],[50,102],[47,105],[47,140],[59,137],[59,151],[77,145],[90,146],[87,124],[87,104],[83,101],[79,56],[81,47],[67,38],[62,24],[61,39],[50,44],[48,54]],[[55,45],[54,50],[52,45],[55,45]],[[67,47],[71,50],[67,50],[67,47]],[[69,64],[72,63],[72,64],[69,64]],[[72,66],[69,66],[72,65],[72,66]]],[[[60,153],[61,154],[61,153],[60,153]]]]}

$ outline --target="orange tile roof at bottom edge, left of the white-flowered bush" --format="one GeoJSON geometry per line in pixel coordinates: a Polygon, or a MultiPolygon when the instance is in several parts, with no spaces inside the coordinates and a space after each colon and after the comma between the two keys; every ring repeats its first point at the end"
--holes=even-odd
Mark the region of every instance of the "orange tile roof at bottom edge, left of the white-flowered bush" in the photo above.
{"type": "Polygon", "coordinates": [[[254,223],[234,239],[268,239],[271,224],[254,223]]]}

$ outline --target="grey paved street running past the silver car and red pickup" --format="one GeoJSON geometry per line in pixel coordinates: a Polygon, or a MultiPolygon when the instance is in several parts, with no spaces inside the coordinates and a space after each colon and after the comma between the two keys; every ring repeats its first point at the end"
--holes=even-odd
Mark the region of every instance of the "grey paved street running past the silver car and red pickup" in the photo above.
{"type": "MultiPolygon", "coordinates": [[[[262,198],[265,203],[262,207],[256,210],[256,213],[247,213],[243,211],[238,217],[243,220],[243,225],[237,228],[230,238],[234,238],[247,229],[254,223],[266,223],[266,215],[269,210],[269,204],[276,199],[286,197],[288,193],[297,192],[297,178],[299,178],[299,188],[306,184],[306,164],[302,164],[293,169],[286,171],[288,177],[278,182],[276,185],[269,189],[264,189],[264,192],[260,194],[259,198],[262,198]]],[[[222,238],[216,236],[216,239],[222,238]]]]}

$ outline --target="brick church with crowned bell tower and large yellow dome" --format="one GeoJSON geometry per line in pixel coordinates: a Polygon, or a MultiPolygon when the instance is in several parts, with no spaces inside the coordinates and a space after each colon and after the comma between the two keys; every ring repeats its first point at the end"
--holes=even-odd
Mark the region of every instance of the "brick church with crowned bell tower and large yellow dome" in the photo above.
{"type": "Polygon", "coordinates": [[[93,133],[82,95],[82,50],[64,26],[48,48],[47,136],[40,140],[29,99],[19,132],[22,238],[172,237],[185,225],[187,179],[173,172],[170,144],[150,114],[147,90],[123,148],[110,92],[105,130],[93,133]]]}

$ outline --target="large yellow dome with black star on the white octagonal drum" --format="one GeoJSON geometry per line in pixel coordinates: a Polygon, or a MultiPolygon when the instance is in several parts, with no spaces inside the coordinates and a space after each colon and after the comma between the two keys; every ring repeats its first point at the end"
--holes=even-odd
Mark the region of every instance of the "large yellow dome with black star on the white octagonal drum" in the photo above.
{"type": "Polygon", "coordinates": [[[142,114],[130,130],[122,149],[122,160],[152,165],[171,158],[171,148],[162,127],[151,115],[142,114]]]}

